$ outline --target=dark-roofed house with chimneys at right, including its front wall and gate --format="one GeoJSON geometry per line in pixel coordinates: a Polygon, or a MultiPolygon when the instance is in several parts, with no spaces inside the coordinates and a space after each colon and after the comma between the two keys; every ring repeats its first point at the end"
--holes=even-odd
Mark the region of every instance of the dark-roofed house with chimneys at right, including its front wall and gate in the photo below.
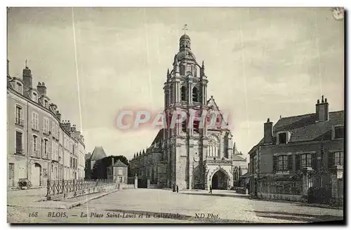
{"type": "Polygon", "coordinates": [[[316,203],[343,197],[344,111],[329,111],[323,96],[315,111],[264,123],[263,139],[249,152],[252,196],[310,196],[316,203]]]}

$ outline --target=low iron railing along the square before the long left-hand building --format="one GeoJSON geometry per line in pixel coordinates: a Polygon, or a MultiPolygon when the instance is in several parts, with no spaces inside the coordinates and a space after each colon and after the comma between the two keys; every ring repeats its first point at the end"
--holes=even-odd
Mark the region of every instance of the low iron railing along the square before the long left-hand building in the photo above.
{"type": "Polygon", "coordinates": [[[46,187],[46,197],[59,194],[68,194],[73,191],[81,191],[84,189],[96,189],[114,184],[112,179],[100,180],[48,180],[46,187]]]}

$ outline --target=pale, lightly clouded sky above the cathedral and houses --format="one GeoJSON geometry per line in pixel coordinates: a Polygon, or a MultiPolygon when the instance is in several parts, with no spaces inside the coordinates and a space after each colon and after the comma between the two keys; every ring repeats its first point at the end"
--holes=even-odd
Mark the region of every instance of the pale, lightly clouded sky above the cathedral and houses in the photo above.
{"type": "Polygon", "coordinates": [[[27,59],[34,86],[46,83],[62,119],[82,129],[87,152],[102,146],[130,158],[158,130],[121,132],[118,111],[164,109],[185,23],[205,62],[207,95],[230,111],[243,154],[267,118],[313,113],[322,95],[331,111],[344,109],[344,23],[330,8],[74,8],[76,48],[71,8],[10,8],[10,73],[21,76],[27,59]]]}

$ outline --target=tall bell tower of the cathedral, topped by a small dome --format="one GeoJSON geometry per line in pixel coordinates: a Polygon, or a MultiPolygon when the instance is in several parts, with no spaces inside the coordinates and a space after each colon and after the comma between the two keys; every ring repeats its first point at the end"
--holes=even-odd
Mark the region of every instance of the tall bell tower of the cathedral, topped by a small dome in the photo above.
{"type": "Polygon", "coordinates": [[[208,81],[204,69],[204,62],[199,65],[192,53],[190,36],[184,33],[180,36],[179,51],[174,56],[172,70],[167,70],[164,83],[165,114],[168,117],[176,111],[187,114],[187,119],[174,127],[169,126],[171,121],[168,119],[164,130],[168,187],[203,187],[203,179],[196,174],[202,170],[203,141],[206,138],[206,129],[199,121],[201,114],[206,114],[208,109],[208,81]]]}

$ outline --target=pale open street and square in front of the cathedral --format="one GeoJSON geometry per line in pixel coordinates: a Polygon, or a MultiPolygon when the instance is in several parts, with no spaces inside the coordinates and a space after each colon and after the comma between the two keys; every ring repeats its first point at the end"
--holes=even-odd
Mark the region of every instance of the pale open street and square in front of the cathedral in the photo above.
{"type": "Polygon", "coordinates": [[[223,194],[216,192],[126,189],[66,210],[8,207],[8,222],[299,223],[343,219],[343,210],[220,196],[223,194]],[[29,217],[35,212],[37,217],[29,217]]]}

